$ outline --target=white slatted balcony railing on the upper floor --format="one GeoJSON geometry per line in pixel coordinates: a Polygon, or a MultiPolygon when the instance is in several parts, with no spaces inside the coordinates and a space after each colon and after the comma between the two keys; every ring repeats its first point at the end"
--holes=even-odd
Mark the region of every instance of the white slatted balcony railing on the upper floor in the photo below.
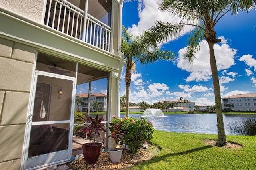
{"type": "Polygon", "coordinates": [[[44,24],[110,52],[111,28],[65,0],[47,1],[44,24]]]}

